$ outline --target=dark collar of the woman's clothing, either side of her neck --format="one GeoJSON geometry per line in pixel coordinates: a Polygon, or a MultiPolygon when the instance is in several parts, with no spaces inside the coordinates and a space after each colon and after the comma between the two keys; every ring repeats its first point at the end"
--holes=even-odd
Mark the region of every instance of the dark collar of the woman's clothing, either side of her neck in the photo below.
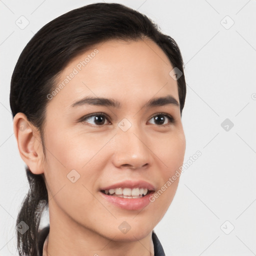
{"type": "MultiPolygon", "coordinates": [[[[48,233],[49,233],[49,226],[46,226],[41,231],[39,231],[39,241],[38,241],[38,248],[37,248],[39,252],[39,256],[42,256],[43,242],[46,236],[48,235],[48,233]]],[[[152,231],[152,240],[154,244],[154,256],[165,256],[162,245],[154,231],[152,231]]],[[[139,256],[139,255],[136,255],[136,256],[139,256]]]]}

